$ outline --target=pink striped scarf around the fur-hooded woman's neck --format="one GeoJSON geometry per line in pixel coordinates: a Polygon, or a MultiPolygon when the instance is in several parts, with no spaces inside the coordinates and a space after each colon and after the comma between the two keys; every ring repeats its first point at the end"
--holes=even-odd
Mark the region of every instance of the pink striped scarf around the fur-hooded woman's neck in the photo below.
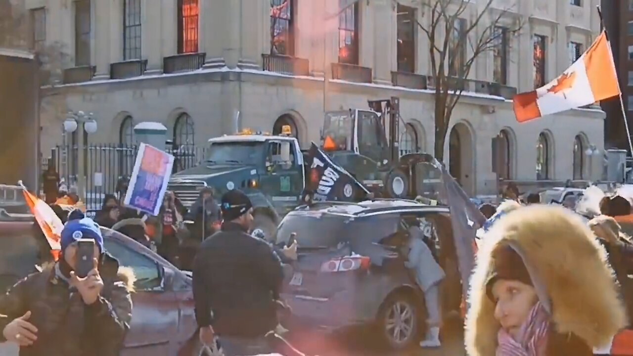
{"type": "Polygon", "coordinates": [[[496,356],[544,356],[549,329],[549,314],[537,302],[515,340],[504,329],[497,334],[496,356]]]}

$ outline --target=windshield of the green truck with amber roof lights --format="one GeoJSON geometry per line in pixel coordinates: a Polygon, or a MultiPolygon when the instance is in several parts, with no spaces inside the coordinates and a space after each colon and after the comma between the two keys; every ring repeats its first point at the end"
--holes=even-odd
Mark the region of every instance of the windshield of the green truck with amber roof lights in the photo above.
{"type": "Polygon", "coordinates": [[[234,141],[211,143],[206,161],[210,163],[257,164],[263,161],[265,143],[234,141]]]}

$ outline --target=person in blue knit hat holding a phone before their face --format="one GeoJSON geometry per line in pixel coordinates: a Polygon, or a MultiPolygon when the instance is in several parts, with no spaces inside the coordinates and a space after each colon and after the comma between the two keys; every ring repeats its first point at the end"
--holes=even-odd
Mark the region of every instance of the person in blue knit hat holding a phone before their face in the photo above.
{"type": "Polygon", "coordinates": [[[119,355],[132,318],[134,275],[104,250],[99,226],[70,220],[60,260],[0,296],[0,342],[20,356],[119,355]]]}

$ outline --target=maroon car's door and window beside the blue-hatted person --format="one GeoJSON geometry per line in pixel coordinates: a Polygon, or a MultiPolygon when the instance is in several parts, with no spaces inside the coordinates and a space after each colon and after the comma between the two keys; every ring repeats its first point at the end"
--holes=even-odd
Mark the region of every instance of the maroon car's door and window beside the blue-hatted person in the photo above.
{"type": "Polygon", "coordinates": [[[132,322],[121,355],[174,355],[179,301],[165,283],[166,277],[173,271],[118,239],[106,238],[105,247],[122,267],[132,269],[136,277],[135,292],[132,293],[132,322]]]}

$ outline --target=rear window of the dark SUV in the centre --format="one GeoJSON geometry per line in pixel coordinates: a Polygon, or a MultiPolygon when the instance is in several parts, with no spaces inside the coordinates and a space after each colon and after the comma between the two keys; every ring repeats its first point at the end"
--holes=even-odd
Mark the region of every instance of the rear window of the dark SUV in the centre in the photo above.
{"type": "Polygon", "coordinates": [[[348,217],[315,212],[292,212],[284,217],[277,231],[277,243],[287,243],[297,233],[301,248],[332,248],[341,242],[348,217]]]}

